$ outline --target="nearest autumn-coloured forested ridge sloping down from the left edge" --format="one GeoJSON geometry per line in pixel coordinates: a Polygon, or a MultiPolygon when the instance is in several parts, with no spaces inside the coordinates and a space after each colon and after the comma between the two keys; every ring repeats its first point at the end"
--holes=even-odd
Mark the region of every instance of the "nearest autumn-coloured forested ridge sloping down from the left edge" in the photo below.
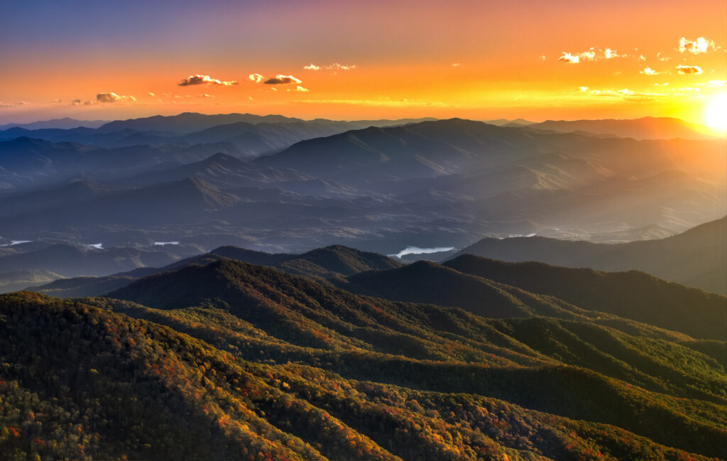
{"type": "MultiPolygon", "coordinates": [[[[392,307],[384,307],[393,313],[392,326],[372,332],[405,339],[397,329],[407,324],[406,317],[392,307]]],[[[239,313],[212,307],[157,310],[100,298],[62,302],[31,293],[0,297],[6,364],[0,424],[9,435],[0,446],[18,457],[154,461],[606,459],[603,454],[620,460],[704,461],[722,452],[718,437],[724,430],[716,415],[707,413],[718,411],[717,404],[690,398],[688,403],[702,408],[699,420],[689,408],[678,416],[669,405],[684,399],[651,401],[655,393],[545,356],[535,358],[540,366],[484,367],[444,356],[438,362],[386,356],[361,347],[350,352],[297,348],[245,324],[239,313]],[[217,332],[206,330],[202,318],[217,332]],[[234,347],[217,348],[221,343],[213,334],[234,347]],[[252,350],[260,346],[262,351],[252,350]],[[306,351],[310,358],[302,358],[306,351]],[[257,357],[246,358],[252,352],[257,357]],[[301,356],[304,363],[329,358],[320,366],[277,364],[286,356],[301,356]],[[373,380],[347,377],[356,372],[342,359],[365,365],[358,374],[373,380]],[[348,371],[332,374],[326,368],[348,371]],[[446,385],[451,374],[474,376],[449,390],[429,390],[446,385]],[[549,374],[569,380],[558,390],[549,374]],[[425,389],[391,385],[382,382],[385,375],[398,382],[426,375],[430,384],[425,389]],[[487,386],[476,384],[485,377],[487,386]],[[598,382],[603,396],[573,392],[590,382],[598,382]],[[478,393],[457,393],[467,386],[478,393]],[[581,402],[613,400],[580,410],[590,420],[570,419],[529,409],[535,398],[520,398],[528,404],[521,406],[492,397],[512,395],[514,387],[515,393],[539,389],[556,399],[571,391],[573,404],[566,412],[581,402]],[[654,424],[631,422],[637,430],[630,432],[598,422],[628,417],[654,424]],[[673,436],[668,445],[642,435],[659,430],[664,434],[654,438],[673,436]],[[699,437],[699,444],[688,437],[699,437]],[[672,446],[688,446],[691,452],[672,446]],[[450,456],[457,452],[462,455],[450,456]]],[[[418,329],[435,332],[426,321],[418,329]]],[[[527,361],[526,355],[521,360],[527,361]]]]}

